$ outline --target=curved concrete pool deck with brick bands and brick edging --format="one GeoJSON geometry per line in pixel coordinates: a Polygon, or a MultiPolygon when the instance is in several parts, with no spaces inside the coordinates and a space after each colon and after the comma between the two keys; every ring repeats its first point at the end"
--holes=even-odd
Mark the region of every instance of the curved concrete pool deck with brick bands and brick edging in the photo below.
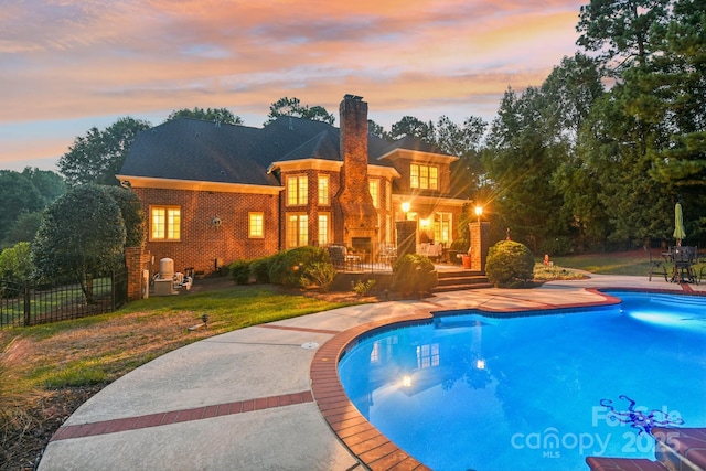
{"type": "Polygon", "coordinates": [[[435,311],[605,302],[590,288],[706,295],[706,285],[592,275],[533,289],[361,304],[229,332],[162,355],[105,387],[56,431],[39,470],[425,469],[361,421],[342,396],[335,355],[347,340],[435,311]]]}

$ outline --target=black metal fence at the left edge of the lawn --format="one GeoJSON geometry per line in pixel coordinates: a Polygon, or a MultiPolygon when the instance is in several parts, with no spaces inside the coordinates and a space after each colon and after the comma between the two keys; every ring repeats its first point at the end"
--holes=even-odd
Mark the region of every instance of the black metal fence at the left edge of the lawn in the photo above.
{"type": "Polygon", "coordinates": [[[127,301],[127,269],[79,283],[0,280],[0,329],[29,327],[113,312],[127,301]],[[84,291],[85,289],[85,291],[84,291]]]}

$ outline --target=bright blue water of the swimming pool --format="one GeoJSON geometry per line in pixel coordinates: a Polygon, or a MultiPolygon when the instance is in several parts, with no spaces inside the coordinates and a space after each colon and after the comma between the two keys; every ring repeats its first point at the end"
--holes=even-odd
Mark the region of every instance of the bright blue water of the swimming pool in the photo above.
{"type": "Polygon", "coordinates": [[[622,304],[453,312],[372,333],[341,358],[341,382],[377,429],[437,471],[654,459],[650,420],[706,427],[706,298],[610,295],[622,304]]]}

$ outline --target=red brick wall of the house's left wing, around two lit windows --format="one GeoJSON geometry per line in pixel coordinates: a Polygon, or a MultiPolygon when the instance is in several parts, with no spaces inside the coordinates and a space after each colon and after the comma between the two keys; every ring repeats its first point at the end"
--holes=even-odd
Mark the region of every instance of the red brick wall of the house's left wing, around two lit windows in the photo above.
{"type": "Polygon", "coordinates": [[[168,257],[174,260],[176,271],[193,267],[196,271],[211,274],[215,270],[216,259],[227,265],[237,259],[271,255],[279,249],[277,195],[146,188],[133,190],[142,201],[148,217],[146,250],[154,257],[152,271],[159,269],[160,259],[168,257]],[[150,204],[181,207],[181,240],[150,240],[150,204]],[[264,238],[248,238],[249,212],[264,214],[264,238]],[[218,227],[212,224],[215,216],[222,222],[218,227]]]}

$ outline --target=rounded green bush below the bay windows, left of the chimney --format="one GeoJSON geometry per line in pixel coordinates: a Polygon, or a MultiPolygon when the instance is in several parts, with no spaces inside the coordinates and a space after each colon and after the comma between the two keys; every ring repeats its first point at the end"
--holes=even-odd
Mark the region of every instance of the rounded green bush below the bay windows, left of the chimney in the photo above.
{"type": "Polygon", "coordinates": [[[304,246],[280,251],[272,256],[269,280],[275,285],[287,287],[309,286],[311,280],[307,276],[307,270],[317,263],[331,264],[329,254],[323,248],[304,246]]]}

